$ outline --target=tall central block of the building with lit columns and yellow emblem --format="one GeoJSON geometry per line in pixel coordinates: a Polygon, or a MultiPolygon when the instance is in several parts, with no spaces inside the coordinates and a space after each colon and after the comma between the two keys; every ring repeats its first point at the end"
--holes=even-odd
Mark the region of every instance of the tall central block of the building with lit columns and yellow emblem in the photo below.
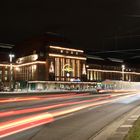
{"type": "Polygon", "coordinates": [[[49,66],[49,80],[86,80],[86,57],[83,50],[50,46],[47,63],[49,66]]]}

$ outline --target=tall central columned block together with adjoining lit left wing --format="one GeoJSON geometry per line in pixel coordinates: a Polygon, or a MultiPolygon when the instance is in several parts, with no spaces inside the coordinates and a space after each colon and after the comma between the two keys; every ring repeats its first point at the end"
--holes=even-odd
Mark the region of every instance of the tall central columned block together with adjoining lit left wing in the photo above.
{"type": "Polygon", "coordinates": [[[45,46],[45,56],[31,54],[16,60],[16,81],[85,80],[86,57],[82,50],[45,46]]]}

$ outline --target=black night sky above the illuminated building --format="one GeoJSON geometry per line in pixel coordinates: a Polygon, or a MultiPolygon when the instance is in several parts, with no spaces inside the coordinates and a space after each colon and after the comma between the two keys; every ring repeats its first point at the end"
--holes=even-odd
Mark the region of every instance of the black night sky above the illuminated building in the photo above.
{"type": "Polygon", "coordinates": [[[78,48],[134,49],[140,46],[139,0],[4,0],[0,42],[17,44],[45,32],[60,34],[78,48]]]}

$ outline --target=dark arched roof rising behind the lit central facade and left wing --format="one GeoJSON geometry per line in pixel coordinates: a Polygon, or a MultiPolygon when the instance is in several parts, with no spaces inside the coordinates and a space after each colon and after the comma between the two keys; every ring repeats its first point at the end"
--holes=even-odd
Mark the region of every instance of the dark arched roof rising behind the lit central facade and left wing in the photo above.
{"type": "MultiPolygon", "coordinates": [[[[54,45],[54,46],[62,46],[69,47],[70,42],[64,37],[58,36],[56,34],[45,33],[42,36],[34,37],[20,44],[17,44],[14,48],[17,57],[22,57],[26,55],[30,55],[33,52],[45,52],[46,46],[54,45]]],[[[71,47],[70,47],[71,48],[71,47]]]]}

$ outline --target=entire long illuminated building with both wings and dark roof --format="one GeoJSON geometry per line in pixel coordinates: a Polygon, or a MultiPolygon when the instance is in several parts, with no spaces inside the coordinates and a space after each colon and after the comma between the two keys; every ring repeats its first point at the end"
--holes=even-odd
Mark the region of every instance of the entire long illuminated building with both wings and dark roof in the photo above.
{"type": "Polygon", "coordinates": [[[12,63],[0,63],[1,86],[13,82],[16,89],[36,90],[48,89],[48,85],[59,89],[88,88],[107,79],[140,81],[138,69],[122,69],[122,62],[89,57],[83,50],[52,42],[43,37],[22,43],[19,48],[23,49],[21,53],[15,51],[12,63]]]}

